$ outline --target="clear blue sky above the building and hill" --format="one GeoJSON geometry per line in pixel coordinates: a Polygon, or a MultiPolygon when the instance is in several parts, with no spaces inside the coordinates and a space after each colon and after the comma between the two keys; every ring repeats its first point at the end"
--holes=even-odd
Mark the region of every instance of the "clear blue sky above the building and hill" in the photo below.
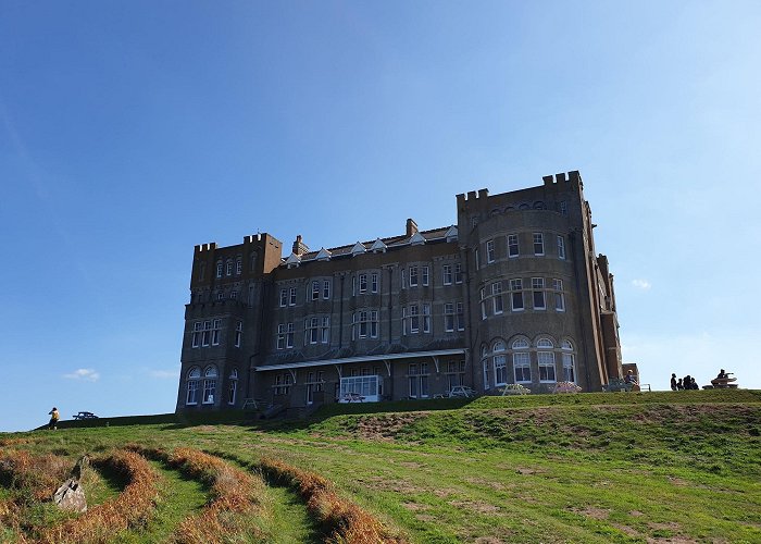
{"type": "Polygon", "coordinates": [[[0,431],[174,410],[192,248],[579,170],[624,360],[761,388],[761,3],[0,1],[0,431]]]}

